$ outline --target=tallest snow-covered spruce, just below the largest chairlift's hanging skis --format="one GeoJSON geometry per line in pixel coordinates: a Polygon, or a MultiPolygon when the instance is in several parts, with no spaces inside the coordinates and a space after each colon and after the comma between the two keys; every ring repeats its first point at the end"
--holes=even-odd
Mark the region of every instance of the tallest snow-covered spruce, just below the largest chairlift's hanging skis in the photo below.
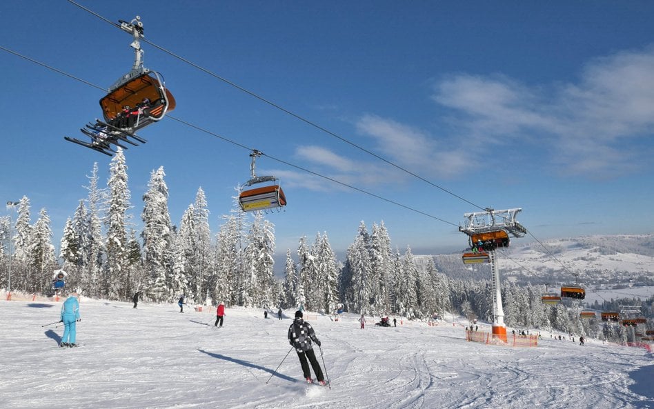
{"type": "Polygon", "coordinates": [[[107,262],[102,279],[102,295],[109,299],[128,299],[125,291],[127,259],[127,211],[130,208],[130,190],[127,185],[127,165],[121,148],[111,159],[109,166],[108,208],[106,217],[107,262]]]}

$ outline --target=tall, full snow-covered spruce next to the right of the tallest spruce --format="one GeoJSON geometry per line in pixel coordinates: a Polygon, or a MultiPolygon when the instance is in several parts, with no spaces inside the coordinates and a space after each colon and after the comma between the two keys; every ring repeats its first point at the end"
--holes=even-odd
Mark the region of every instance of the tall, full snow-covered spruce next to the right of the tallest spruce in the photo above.
{"type": "Polygon", "coordinates": [[[143,194],[143,264],[152,280],[150,297],[159,302],[173,301],[181,294],[171,292],[172,223],[168,212],[168,186],[164,167],[150,173],[148,192],[143,194]]]}

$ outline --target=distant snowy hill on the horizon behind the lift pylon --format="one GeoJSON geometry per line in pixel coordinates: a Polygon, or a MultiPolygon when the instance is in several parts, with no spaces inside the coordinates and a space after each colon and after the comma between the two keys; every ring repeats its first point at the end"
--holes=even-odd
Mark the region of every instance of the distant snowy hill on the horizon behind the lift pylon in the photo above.
{"type": "MultiPolygon", "coordinates": [[[[497,251],[503,279],[517,283],[575,283],[584,286],[653,286],[654,234],[595,235],[540,243],[513,240],[497,251]],[[545,247],[545,248],[544,248],[545,247]]],[[[464,266],[461,254],[416,256],[424,268],[433,258],[438,270],[459,279],[488,279],[488,265],[464,266]]]]}

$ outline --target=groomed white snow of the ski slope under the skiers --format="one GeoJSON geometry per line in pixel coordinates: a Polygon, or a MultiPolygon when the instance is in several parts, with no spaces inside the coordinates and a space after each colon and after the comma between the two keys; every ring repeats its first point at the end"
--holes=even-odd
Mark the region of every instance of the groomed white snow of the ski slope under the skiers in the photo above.
{"type": "Polygon", "coordinates": [[[654,408],[654,361],[642,348],[545,333],[537,348],[508,348],[466,342],[458,323],[368,319],[360,330],[355,315],[319,316],[308,321],[329,389],[304,383],[293,351],[274,372],[293,311],[279,321],[231,308],[218,329],[190,306],[82,299],[81,346],[58,348],[63,328],[41,325],[59,309],[0,301],[1,408],[654,408]]]}

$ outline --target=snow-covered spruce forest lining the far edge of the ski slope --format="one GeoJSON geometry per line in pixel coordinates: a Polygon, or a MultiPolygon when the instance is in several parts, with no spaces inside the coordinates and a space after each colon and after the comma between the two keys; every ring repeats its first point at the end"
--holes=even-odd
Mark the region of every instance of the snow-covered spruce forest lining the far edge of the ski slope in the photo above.
{"type": "MultiPolygon", "coordinates": [[[[17,217],[0,219],[0,282],[26,294],[48,294],[52,271],[68,272],[66,287],[86,297],[126,301],[135,292],[150,302],[217,303],[259,308],[296,308],[333,313],[337,308],[368,315],[430,319],[453,312],[467,319],[490,320],[490,281],[446,277],[433,259],[418,268],[410,248],[392,250],[383,221],[368,232],[362,221],[346,259],[337,261],[328,236],[299,240],[286,251],[284,279],[273,272],[275,230],[261,212],[247,214],[235,200],[210,230],[208,203],[199,188],[176,226],[168,212],[163,168],[153,170],[143,194],[142,230],[131,221],[132,198],[124,154],[110,162],[106,187],[99,186],[97,163],[88,177],[88,197],[66,222],[59,255],[52,244],[45,209],[30,221],[30,199],[23,197],[17,217]],[[12,226],[10,226],[12,225],[12,226]],[[10,251],[11,250],[11,251],[10,251]],[[11,254],[10,254],[11,253],[11,254]],[[11,260],[9,260],[11,259],[11,260]]],[[[546,328],[609,341],[634,339],[633,328],[579,319],[578,303],[544,305],[544,286],[503,284],[505,320],[516,328],[546,328]]],[[[619,301],[613,301],[617,303],[619,301]]],[[[654,316],[654,297],[644,302],[654,316]]],[[[595,308],[611,310],[611,304],[595,308]]]]}

